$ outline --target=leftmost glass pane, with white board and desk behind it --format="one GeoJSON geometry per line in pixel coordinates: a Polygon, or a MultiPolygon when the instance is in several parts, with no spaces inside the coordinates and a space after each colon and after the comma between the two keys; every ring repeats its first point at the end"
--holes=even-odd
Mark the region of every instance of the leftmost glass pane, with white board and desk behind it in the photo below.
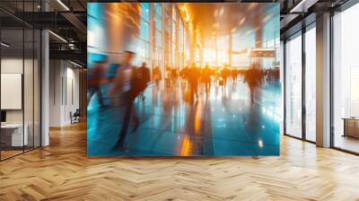
{"type": "Polygon", "coordinates": [[[29,127],[26,126],[25,129],[23,127],[22,82],[24,80],[23,67],[25,62],[23,34],[22,28],[1,31],[1,42],[6,44],[6,46],[1,46],[0,79],[3,119],[0,135],[2,160],[22,153],[23,145],[29,143],[27,132],[29,127]]]}

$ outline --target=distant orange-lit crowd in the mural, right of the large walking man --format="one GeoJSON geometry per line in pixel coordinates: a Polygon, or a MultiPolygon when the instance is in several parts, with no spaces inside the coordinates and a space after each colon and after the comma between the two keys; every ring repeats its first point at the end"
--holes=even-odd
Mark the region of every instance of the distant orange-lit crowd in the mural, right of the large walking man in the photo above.
{"type": "MultiPolygon", "coordinates": [[[[154,77],[160,77],[161,71],[159,68],[155,68],[155,73],[153,70],[154,77]]],[[[176,83],[176,81],[181,78],[188,86],[188,96],[189,100],[198,100],[198,85],[203,83],[205,86],[206,98],[209,96],[211,89],[211,84],[220,86],[223,91],[228,85],[228,81],[232,83],[237,83],[241,77],[241,81],[247,83],[250,88],[250,98],[254,101],[254,94],[259,85],[263,82],[270,83],[276,82],[279,80],[279,70],[268,68],[262,69],[258,63],[252,64],[249,68],[236,68],[230,66],[223,67],[210,67],[206,66],[185,66],[181,70],[175,67],[167,66],[166,67],[166,76],[167,84],[176,83]]],[[[156,80],[156,84],[159,81],[156,80]]]]}

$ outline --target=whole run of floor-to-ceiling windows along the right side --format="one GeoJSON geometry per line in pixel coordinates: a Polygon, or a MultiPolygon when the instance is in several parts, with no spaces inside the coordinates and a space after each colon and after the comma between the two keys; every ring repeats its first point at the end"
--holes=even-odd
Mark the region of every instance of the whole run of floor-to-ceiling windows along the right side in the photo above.
{"type": "MultiPolygon", "coordinates": [[[[330,60],[328,64],[331,64],[330,77],[324,77],[330,80],[331,99],[328,103],[331,109],[330,123],[328,123],[330,129],[325,129],[330,131],[328,132],[330,147],[357,154],[359,153],[359,91],[356,86],[359,85],[359,59],[356,48],[359,47],[357,39],[359,30],[353,24],[359,18],[359,4],[339,6],[330,18],[332,26],[329,29],[321,28],[324,33],[320,33],[327,34],[325,31],[330,31],[332,36],[328,41],[330,44],[322,44],[323,47],[330,47],[331,54],[320,53],[328,54],[330,60]]],[[[303,138],[312,143],[317,143],[316,121],[320,118],[317,117],[316,111],[317,90],[320,89],[317,86],[319,53],[316,39],[322,36],[317,35],[316,23],[312,22],[302,29],[304,32],[300,31],[284,42],[285,135],[303,138]],[[305,121],[302,122],[303,120],[305,121]]],[[[327,144],[320,142],[323,143],[327,144]]]]}

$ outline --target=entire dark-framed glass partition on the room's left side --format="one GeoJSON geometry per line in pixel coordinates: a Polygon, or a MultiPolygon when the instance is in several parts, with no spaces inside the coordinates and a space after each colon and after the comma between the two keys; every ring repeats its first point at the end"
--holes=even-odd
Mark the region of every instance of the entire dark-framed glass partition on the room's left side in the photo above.
{"type": "MultiPolygon", "coordinates": [[[[39,1],[17,2],[18,12],[36,12],[39,1]]],[[[11,2],[0,5],[13,6],[11,2]]],[[[40,31],[13,19],[0,24],[0,159],[40,146],[40,31]]]]}

